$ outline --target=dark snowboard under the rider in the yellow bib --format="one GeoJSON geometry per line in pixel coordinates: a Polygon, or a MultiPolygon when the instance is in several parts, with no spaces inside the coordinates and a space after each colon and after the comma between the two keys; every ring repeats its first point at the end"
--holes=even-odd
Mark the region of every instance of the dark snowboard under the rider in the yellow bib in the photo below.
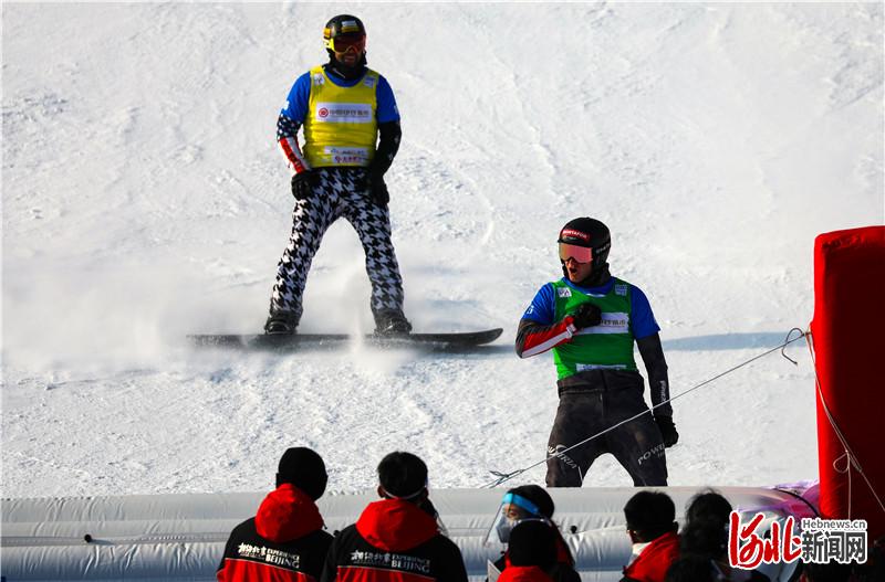
{"type": "Polygon", "coordinates": [[[196,334],[188,336],[195,346],[210,348],[235,348],[246,350],[289,351],[305,347],[343,346],[362,340],[367,346],[381,348],[417,347],[421,349],[459,350],[489,343],[500,337],[503,329],[480,331],[455,331],[449,334],[407,334],[403,336],[376,336],[367,334],[362,338],[348,334],[295,334],[292,336],[266,334],[196,334]]]}

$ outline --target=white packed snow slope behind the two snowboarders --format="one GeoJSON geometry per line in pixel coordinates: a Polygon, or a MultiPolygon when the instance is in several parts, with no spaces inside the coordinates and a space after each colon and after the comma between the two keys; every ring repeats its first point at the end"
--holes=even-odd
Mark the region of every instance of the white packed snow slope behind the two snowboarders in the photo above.
{"type": "MultiPolygon", "coordinates": [[[[12,497],[263,490],[292,445],[331,489],[372,486],[393,449],[434,488],[480,486],[544,456],[551,356],[512,339],[568,220],[610,225],[679,394],[806,327],[816,234],[885,218],[881,3],[4,2],[2,114],[12,497]],[[196,350],[185,335],[263,325],[293,205],[277,115],[342,12],[403,116],[408,317],[504,335],[471,355],[196,350]]],[[[371,326],[342,222],[301,329],[371,326]]],[[[674,402],[670,484],[816,477],[811,359],[787,355],[674,402]]],[[[629,484],[611,457],[586,479],[629,484]]]]}

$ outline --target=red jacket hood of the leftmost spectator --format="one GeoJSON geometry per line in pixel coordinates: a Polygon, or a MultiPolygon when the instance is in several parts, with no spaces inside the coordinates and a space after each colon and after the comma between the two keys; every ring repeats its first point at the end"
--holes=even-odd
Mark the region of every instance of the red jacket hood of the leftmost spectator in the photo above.
{"type": "Polygon", "coordinates": [[[323,527],[323,517],[311,497],[284,483],[271,491],[258,508],[256,531],[273,542],[303,538],[323,527]]]}

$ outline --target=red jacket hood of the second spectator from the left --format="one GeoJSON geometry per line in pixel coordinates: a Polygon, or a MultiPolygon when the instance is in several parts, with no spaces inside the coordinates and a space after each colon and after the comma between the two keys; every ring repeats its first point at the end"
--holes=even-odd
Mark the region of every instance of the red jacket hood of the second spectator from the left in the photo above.
{"type": "Polygon", "coordinates": [[[421,508],[403,499],[368,504],[356,521],[356,531],[384,551],[405,551],[438,533],[436,520],[421,508]]]}

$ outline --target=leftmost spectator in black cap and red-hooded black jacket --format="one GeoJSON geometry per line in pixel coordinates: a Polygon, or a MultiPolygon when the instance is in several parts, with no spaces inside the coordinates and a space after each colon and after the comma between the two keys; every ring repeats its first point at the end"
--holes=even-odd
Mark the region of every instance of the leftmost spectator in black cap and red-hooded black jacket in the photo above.
{"type": "Polygon", "coordinates": [[[256,517],[230,533],[216,576],[219,582],[316,582],[332,536],[316,507],[329,477],[310,448],[289,448],[280,458],[277,489],[256,517]]]}

